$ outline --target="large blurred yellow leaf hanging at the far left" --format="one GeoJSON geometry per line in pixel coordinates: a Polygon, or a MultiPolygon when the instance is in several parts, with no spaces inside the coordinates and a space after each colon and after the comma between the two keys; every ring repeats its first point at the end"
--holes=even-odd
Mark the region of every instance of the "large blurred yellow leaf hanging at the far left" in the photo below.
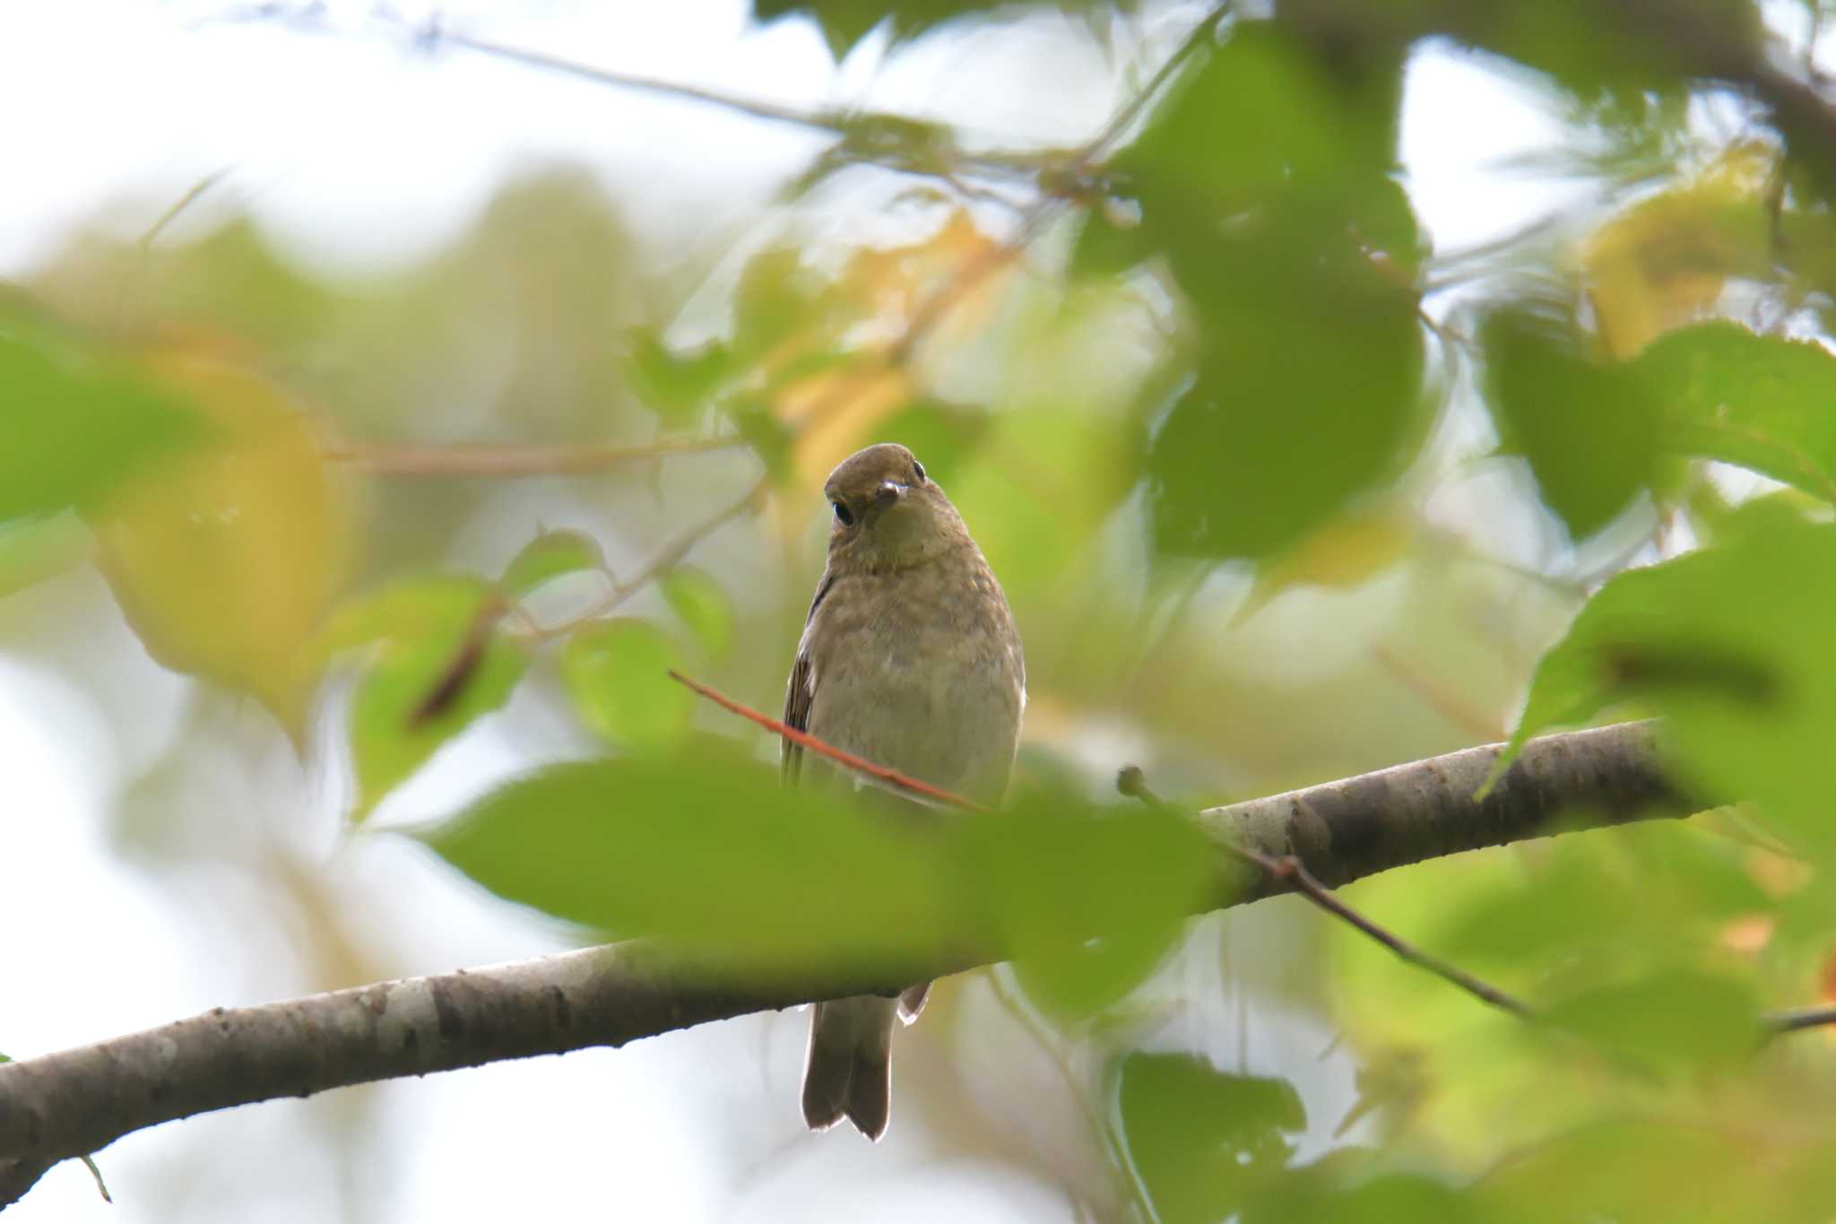
{"type": "Polygon", "coordinates": [[[356,547],[349,490],[319,431],[268,380],[198,352],[151,369],[211,435],[95,503],[101,569],[154,659],[252,694],[297,738],[308,646],[356,547]]]}

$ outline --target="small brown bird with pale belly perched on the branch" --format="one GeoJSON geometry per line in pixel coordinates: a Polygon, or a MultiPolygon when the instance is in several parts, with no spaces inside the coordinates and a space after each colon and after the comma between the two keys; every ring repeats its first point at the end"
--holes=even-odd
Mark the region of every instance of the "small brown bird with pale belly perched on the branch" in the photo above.
{"type": "MultiPolygon", "coordinates": [[[[856,451],[823,486],[835,512],[784,721],[837,749],[980,804],[1001,802],[1019,747],[1026,662],[1013,613],[949,497],[903,446],[856,451]]],[[[784,778],[835,771],[784,743],[784,778]]],[[[802,1108],[812,1130],[848,1118],[878,1140],[892,1105],[894,998],[817,1004],[802,1108]]]]}

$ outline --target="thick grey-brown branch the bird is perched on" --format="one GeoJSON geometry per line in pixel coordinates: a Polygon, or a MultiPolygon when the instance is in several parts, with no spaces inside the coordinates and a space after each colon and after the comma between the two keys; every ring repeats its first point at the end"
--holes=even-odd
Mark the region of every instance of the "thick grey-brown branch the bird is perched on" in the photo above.
{"type": "MultiPolygon", "coordinates": [[[[1337,886],[1461,850],[1564,828],[1680,817],[1696,806],[1665,776],[1647,723],[1533,740],[1498,785],[1474,800],[1500,752],[1500,745],[1465,749],[1199,817],[1217,837],[1267,855],[1296,855],[1337,886]]],[[[1221,872],[1212,905],[1291,888],[1293,881],[1243,881],[1221,872]]],[[[988,960],[995,956],[966,952],[955,963],[927,965],[924,976],[988,960]]],[[[911,976],[901,973],[898,982],[905,980],[911,976]]],[[[0,1206],[31,1189],[51,1163],[162,1121],[376,1079],[622,1046],[753,1011],[883,993],[898,982],[812,965],[795,980],[762,985],[633,941],[255,1007],[215,1007],[0,1064],[0,1206]]]]}

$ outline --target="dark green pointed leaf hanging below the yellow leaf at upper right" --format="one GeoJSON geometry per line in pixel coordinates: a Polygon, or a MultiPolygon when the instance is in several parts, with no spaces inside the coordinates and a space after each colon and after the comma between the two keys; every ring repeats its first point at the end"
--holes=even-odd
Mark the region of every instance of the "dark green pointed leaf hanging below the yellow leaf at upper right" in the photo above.
{"type": "Polygon", "coordinates": [[[1528,312],[1483,334],[1487,400],[1502,444],[1575,540],[1606,527],[1658,477],[1658,415],[1640,380],[1590,362],[1572,330],[1528,312]]]}

